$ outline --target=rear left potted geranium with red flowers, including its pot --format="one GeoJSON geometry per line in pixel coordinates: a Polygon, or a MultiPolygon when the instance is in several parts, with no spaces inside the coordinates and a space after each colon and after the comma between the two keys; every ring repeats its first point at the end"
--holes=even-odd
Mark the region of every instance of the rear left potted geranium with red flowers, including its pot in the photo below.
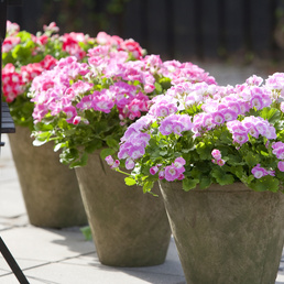
{"type": "Polygon", "coordinates": [[[28,98],[32,79],[55,66],[58,58],[79,58],[94,46],[94,39],[80,33],[58,35],[55,23],[33,35],[7,22],[2,45],[2,91],[15,123],[9,135],[29,220],[34,226],[63,228],[87,223],[76,174],[58,162],[58,154],[32,145],[33,102],[28,98]]]}

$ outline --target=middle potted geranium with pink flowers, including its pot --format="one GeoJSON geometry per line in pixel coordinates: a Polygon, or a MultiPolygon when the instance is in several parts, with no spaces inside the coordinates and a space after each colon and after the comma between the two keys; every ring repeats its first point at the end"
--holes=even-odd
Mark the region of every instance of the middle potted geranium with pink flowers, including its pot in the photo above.
{"type": "Polygon", "coordinates": [[[35,144],[54,141],[61,162],[75,167],[101,263],[161,264],[171,236],[163,200],[125,186],[103,160],[118,151],[123,131],[148,112],[150,99],[171,86],[168,76],[173,80],[177,69],[192,79],[214,79],[193,64],[163,63],[157,55],[133,61],[110,46],[90,48],[88,56],[88,64],[63,58],[33,80],[35,144]]]}

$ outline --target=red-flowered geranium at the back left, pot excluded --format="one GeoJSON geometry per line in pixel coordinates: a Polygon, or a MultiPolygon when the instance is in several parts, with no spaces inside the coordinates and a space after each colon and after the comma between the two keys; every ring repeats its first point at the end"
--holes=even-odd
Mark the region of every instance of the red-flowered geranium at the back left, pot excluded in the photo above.
{"type": "Polygon", "coordinates": [[[36,35],[20,31],[17,23],[7,23],[7,37],[2,45],[2,91],[18,125],[33,129],[33,102],[26,96],[28,90],[33,78],[52,69],[59,58],[73,55],[81,62],[87,61],[87,51],[98,45],[127,51],[131,58],[139,58],[144,53],[133,40],[123,41],[105,32],[90,37],[75,32],[59,35],[58,31],[54,22],[44,25],[43,32],[36,35]]]}

